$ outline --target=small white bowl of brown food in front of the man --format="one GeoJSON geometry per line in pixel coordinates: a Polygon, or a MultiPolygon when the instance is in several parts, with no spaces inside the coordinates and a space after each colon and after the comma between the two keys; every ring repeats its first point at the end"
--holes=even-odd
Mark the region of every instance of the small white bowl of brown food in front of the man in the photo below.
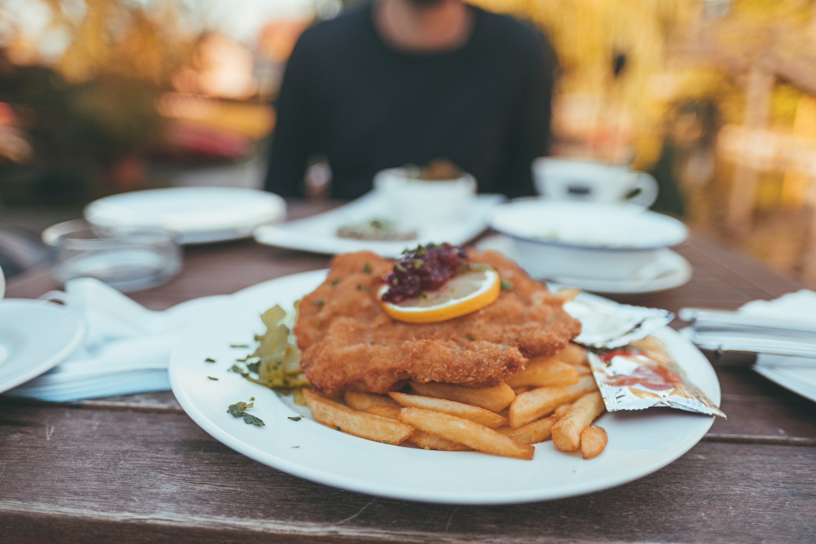
{"type": "Polygon", "coordinates": [[[476,200],[476,179],[470,174],[425,181],[406,168],[388,168],[377,172],[374,187],[385,195],[390,217],[410,225],[458,221],[476,200]]]}

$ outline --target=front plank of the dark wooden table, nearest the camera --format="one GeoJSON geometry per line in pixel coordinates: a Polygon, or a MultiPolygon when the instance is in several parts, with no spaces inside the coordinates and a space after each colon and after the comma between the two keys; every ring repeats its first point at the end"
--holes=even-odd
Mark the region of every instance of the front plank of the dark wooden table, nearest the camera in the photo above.
{"type": "Polygon", "coordinates": [[[11,406],[0,443],[3,542],[816,539],[816,448],[701,443],[653,475],[584,497],[446,506],[299,480],[182,414],[11,406]]]}

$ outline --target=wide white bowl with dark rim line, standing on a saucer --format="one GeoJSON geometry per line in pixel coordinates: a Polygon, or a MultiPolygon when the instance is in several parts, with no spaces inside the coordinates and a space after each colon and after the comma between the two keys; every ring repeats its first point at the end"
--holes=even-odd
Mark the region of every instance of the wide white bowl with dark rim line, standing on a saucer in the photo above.
{"type": "Polygon", "coordinates": [[[685,225],[641,206],[526,199],[497,206],[490,226],[512,237],[530,276],[621,280],[688,237],[685,225]]]}

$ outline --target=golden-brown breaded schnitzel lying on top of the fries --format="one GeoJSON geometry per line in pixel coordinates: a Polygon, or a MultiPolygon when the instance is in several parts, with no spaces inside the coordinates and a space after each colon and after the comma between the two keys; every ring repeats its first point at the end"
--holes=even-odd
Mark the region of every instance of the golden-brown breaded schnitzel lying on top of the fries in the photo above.
{"type": "Polygon", "coordinates": [[[471,249],[468,260],[490,265],[512,289],[466,316],[414,324],[393,321],[377,300],[392,260],[367,251],[335,256],[326,281],[299,304],[294,332],[308,380],[326,392],[385,393],[406,379],[489,387],[580,333],[563,301],[512,261],[471,249]]]}

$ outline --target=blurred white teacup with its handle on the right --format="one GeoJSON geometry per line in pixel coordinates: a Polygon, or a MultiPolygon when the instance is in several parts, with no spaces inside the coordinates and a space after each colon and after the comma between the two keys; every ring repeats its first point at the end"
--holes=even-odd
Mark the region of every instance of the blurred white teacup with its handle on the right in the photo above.
{"type": "Polygon", "coordinates": [[[658,184],[652,176],[604,162],[539,157],[533,161],[533,178],[535,188],[548,200],[626,202],[649,207],[658,197],[658,184]]]}

